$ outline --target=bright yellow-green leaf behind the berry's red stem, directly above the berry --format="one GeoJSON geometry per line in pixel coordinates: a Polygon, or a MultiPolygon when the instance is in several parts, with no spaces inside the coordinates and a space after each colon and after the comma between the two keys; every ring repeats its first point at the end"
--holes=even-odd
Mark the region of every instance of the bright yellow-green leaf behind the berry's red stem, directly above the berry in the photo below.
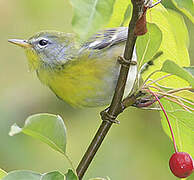
{"type": "MultiPolygon", "coordinates": [[[[181,106],[164,98],[161,102],[167,111],[179,151],[187,152],[194,157],[194,112],[185,111],[181,106]]],[[[194,108],[194,105],[185,105],[194,108]]],[[[164,131],[172,138],[163,112],[160,114],[164,131]]]]}

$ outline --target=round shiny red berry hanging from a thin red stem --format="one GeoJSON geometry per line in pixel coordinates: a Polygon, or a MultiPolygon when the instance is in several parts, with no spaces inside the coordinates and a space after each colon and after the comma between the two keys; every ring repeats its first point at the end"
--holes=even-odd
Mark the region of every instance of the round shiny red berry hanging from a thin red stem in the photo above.
{"type": "Polygon", "coordinates": [[[186,178],[194,171],[192,157],[186,152],[174,153],[169,161],[170,170],[179,178],[186,178]]]}

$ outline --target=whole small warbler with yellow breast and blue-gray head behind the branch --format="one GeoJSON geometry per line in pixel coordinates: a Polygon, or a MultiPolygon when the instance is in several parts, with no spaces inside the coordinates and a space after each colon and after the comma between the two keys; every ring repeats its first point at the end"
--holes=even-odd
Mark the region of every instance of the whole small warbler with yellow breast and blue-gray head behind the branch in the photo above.
{"type": "MultiPolygon", "coordinates": [[[[28,40],[8,41],[25,49],[30,70],[60,99],[76,107],[107,105],[119,75],[128,28],[106,29],[79,43],[70,33],[42,31],[28,40]]],[[[136,52],[133,61],[137,62],[136,52]]],[[[133,89],[137,65],[130,66],[126,93],[133,89]]]]}

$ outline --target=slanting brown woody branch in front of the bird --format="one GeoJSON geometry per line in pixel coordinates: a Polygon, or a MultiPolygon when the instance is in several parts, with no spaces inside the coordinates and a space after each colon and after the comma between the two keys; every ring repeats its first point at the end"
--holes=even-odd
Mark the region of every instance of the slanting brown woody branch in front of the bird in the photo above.
{"type": "MultiPolygon", "coordinates": [[[[131,1],[133,4],[133,13],[128,27],[128,37],[127,37],[127,42],[126,42],[125,51],[124,51],[123,60],[125,61],[125,63],[121,64],[120,74],[119,74],[119,78],[117,81],[117,85],[115,88],[111,105],[108,108],[108,110],[104,110],[103,112],[101,112],[102,123],[76,169],[79,180],[81,180],[83,175],[85,174],[88,166],[90,165],[92,159],[94,158],[96,152],[98,151],[110,127],[112,126],[113,123],[117,122],[116,121],[117,116],[121,112],[123,112],[122,99],[123,99],[123,94],[125,90],[130,63],[133,56],[133,50],[134,50],[134,46],[137,38],[137,36],[134,34],[134,29],[136,26],[136,22],[140,17],[142,13],[142,9],[144,7],[144,0],[131,0],[131,1]],[[128,66],[126,66],[126,62],[128,63],[128,66]]],[[[128,101],[128,102],[129,103],[127,104],[127,106],[132,105],[135,102],[134,97],[132,96],[131,101],[128,101]]]]}

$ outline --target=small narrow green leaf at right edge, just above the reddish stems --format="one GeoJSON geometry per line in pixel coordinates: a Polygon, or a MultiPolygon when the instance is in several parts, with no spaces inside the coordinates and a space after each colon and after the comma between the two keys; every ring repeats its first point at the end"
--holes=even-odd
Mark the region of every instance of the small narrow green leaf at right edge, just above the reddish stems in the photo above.
{"type": "Polygon", "coordinates": [[[186,80],[194,88],[194,76],[184,68],[178,66],[175,62],[166,60],[161,70],[186,80]]]}

